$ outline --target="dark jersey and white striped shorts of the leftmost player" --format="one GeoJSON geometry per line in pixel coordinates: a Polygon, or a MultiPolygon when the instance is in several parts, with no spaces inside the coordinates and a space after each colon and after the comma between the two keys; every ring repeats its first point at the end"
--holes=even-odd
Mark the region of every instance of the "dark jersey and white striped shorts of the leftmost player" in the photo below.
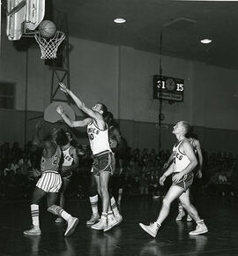
{"type": "Polygon", "coordinates": [[[41,156],[42,176],[36,186],[45,192],[59,192],[62,185],[62,179],[58,172],[61,160],[61,149],[56,147],[56,152],[51,157],[41,156]]]}

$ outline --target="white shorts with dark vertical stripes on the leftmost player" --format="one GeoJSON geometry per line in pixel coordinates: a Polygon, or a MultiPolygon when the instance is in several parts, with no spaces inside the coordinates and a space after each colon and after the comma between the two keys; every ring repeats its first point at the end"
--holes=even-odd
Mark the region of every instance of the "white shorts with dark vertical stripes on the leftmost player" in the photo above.
{"type": "Polygon", "coordinates": [[[59,192],[62,185],[60,174],[55,171],[45,171],[38,180],[36,186],[44,192],[59,192]]]}

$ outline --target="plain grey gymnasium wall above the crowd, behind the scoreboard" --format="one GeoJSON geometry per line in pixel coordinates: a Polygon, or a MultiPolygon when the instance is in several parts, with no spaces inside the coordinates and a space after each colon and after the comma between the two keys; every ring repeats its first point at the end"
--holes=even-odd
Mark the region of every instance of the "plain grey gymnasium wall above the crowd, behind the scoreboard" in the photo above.
{"type": "MultiPolygon", "coordinates": [[[[120,121],[130,147],[158,148],[159,102],[152,99],[152,76],[159,72],[159,56],[76,38],[70,42],[71,89],[88,106],[107,104],[120,121]]],[[[23,134],[31,138],[34,122],[26,122],[25,109],[29,116],[37,117],[50,103],[51,71],[37,47],[17,51],[5,39],[2,48],[0,80],[16,83],[16,110],[0,110],[0,140],[19,140],[22,144],[26,139],[23,134]]],[[[163,75],[184,79],[185,88],[184,102],[163,103],[166,118],[161,130],[162,148],[170,148],[175,141],[173,124],[187,120],[196,127],[206,149],[235,152],[237,71],[170,56],[162,56],[162,67],[163,75]]],[[[82,113],[74,109],[81,117],[82,113]]],[[[80,136],[80,140],[86,143],[86,136],[80,136]]]]}

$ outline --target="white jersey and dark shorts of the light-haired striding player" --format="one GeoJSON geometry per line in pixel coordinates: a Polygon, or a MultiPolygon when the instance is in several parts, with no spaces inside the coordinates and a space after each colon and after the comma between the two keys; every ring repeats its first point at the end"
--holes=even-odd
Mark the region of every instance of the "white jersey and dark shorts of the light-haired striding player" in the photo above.
{"type": "MultiPolygon", "coordinates": [[[[185,139],[182,139],[178,145],[174,146],[173,152],[174,152],[174,173],[175,174],[181,172],[183,169],[185,169],[190,164],[190,159],[186,154],[182,154],[182,152],[179,150],[179,147],[181,146],[182,142],[185,139]]],[[[180,181],[177,183],[174,183],[175,185],[178,185],[182,187],[184,191],[186,191],[193,181],[193,172],[190,171],[189,173],[185,174],[180,181]]]]}

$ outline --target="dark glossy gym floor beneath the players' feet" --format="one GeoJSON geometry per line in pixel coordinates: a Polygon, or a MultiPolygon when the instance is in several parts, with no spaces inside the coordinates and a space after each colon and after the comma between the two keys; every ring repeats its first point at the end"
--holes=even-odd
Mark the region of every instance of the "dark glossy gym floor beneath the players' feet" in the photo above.
{"type": "Polygon", "coordinates": [[[2,200],[0,203],[0,255],[20,256],[134,256],[134,255],[238,255],[238,199],[204,197],[195,202],[209,232],[190,237],[191,222],[175,222],[176,203],[152,238],[141,230],[138,222],[156,219],[161,199],[128,198],[122,203],[123,222],[106,233],[86,226],[91,215],[87,200],[68,200],[68,211],[79,217],[79,225],[71,237],[63,237],[65,226],[55,224],[55,216],[40,206],[41,237],[22,234],[31,225],[29,201],[2,200]]]}

